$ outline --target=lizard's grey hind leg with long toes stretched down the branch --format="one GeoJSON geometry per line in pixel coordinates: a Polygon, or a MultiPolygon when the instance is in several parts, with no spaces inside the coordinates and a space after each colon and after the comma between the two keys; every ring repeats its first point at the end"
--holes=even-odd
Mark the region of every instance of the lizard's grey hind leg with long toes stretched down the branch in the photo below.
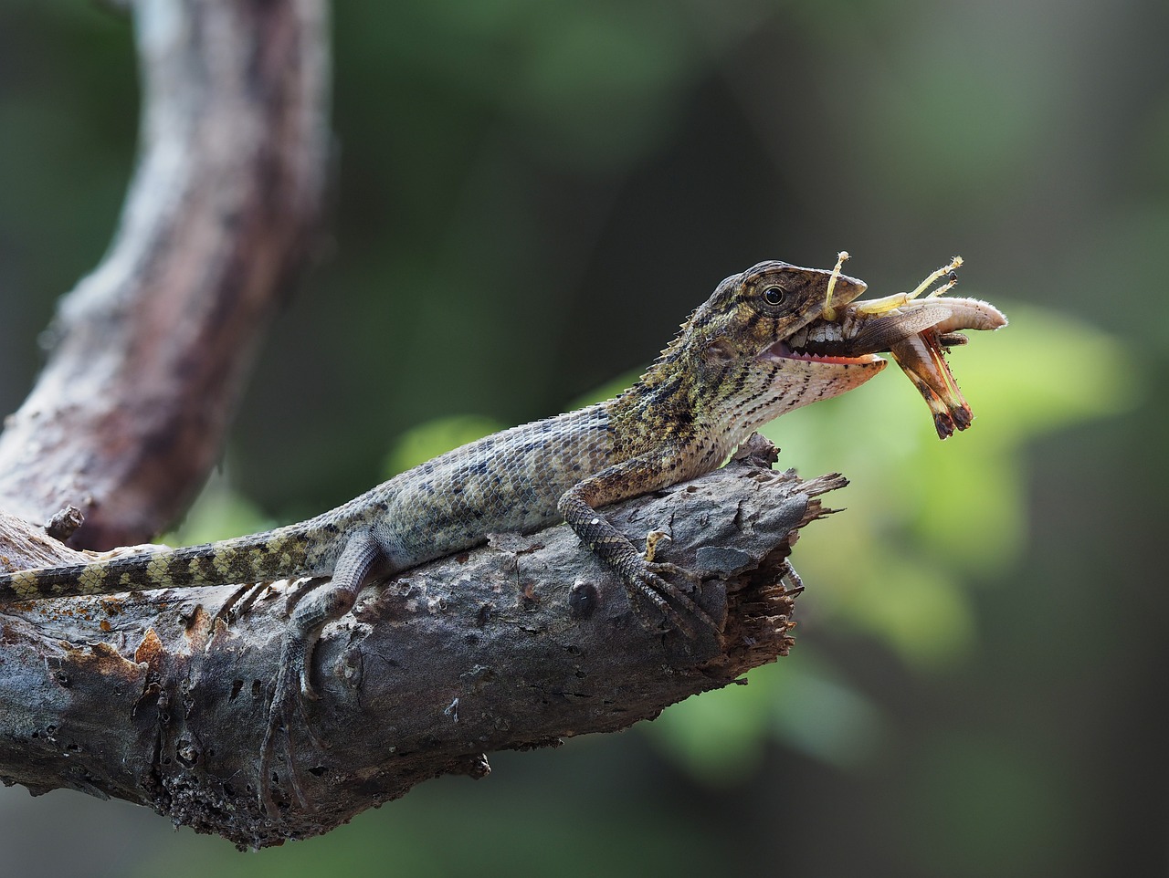
{"type": "Polygon", "coordinates": [[[305,701],[319,698],[311,680],[312,655],[324,627],[353,608],[361,586],[383,559],[381,544],[372,534],[366,531],[354,535],[337,559],[332,580],[317,588],[298,590],[295,595],[299,600],[291,611],[281,641],[279,666],[260,754],[260,806],[269,815],[277,814],[271,790],[272,758],[277,738],[283,741],[285,781],[298,804],[304,809],[311,809],[296,776],[290,725],[295,719],[299,719],[313,743],[321,747],[326,746],[313,733],[305,711],[305,701]]]}

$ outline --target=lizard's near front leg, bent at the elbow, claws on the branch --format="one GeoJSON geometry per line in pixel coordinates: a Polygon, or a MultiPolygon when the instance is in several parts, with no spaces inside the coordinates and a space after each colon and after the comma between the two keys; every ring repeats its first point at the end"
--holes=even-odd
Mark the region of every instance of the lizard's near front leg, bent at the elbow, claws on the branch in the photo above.
{"type": "Polygon", "coordinates": [[[648,628],[659,627],[642,609],[641,601],[649,600],[672,627],[687,636],[697,635],[691,622],[693,619],[719,637],[721,633],[714,620],[686,592],[665,578],[671,576],[694,580],[697,576],[675,564],[646,560],[597,511],[597,507],[678,481],[677,478],[670,479],[666,475],[670,472],[671,461],[660,454],[632,458],[574,485],[560,497],[556,509],[589,550],[621,577],[629,594],[629,604],[643,625],[648,628]]]}

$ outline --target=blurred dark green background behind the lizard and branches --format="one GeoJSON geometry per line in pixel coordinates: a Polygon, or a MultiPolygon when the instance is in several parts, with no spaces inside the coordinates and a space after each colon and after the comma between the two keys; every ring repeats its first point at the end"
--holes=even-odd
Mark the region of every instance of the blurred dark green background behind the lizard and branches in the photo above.
{"type": "MultiPolygon", "coordinates": [[[[618,736],[499,753],[307,842],[0,790],[14,873],[1165,874],[1169,6],[475,0],[334,8],[325,260],[178,539],[339,503],[636,375],[762,259],[1011,319],[769,430],[841,471],[790,657],[618,736]],[[623,376],[623,377],[618,377],[623,376]]],[[[131,26],[0,0],[0,411],[132,170],[131,26]]]]}

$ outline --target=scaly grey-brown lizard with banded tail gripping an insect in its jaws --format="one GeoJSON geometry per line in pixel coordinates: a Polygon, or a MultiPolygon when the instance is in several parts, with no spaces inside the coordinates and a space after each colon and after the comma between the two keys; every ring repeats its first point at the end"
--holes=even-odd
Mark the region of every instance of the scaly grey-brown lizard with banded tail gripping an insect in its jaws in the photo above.
{"type": "MultiPolygon", "coordinates": [[[[817,354],[789,344],[817,322],[838,320],[830,301],[846,308],[864,293],[864,281],[841,272],[842,262],[843,255],[831,271],[763,262],[732,274],[644,375],[611,399],[485,437],[304,522],[216,543],[2,573],[0,604],[327,578],[290,606],[261,757],[261,804],[269,813],[274,736],[279,729],[286,736],[291,704],[317,697],[310,669],[324,627],[350,612],[367,583],[485,543],[491,534],[531,531],[562,518],[616,573],[644,625],[720,637],[719,625],[691,597],[696,574],[653,560],[649,543],[642,553],[602,508],[711,472],[763,424],[857,388],[885,367],[865,350],[817,354]]],[[[919,332],[906,323],[898,333],[905,319],[887,311],[869,348],[888,349],[919,332]]]]}

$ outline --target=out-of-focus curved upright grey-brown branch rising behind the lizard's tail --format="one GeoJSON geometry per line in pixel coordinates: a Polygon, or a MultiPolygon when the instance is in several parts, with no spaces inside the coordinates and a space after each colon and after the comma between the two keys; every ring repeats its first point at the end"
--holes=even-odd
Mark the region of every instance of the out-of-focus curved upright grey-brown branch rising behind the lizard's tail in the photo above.
{"type": "Polygon", "coordinates": [[[214,465],[326,166],[323,0],[132,9],[143,110],[119,228],[0,435],[0,509],[44,523],[74,507],[71,543],[97,549],[154,536],[214,465]]]}

